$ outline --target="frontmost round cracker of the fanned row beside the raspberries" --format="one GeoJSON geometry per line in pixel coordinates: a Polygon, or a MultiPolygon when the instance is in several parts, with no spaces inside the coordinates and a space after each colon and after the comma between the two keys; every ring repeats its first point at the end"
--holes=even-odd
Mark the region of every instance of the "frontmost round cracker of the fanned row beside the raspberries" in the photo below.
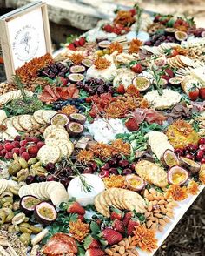
{"type": "Polygon", "coordinates": [[[37,153],[37,157],[43,164],[56,163],[60,158],[61,151],[57,145],[43,145],[37,153]]]}

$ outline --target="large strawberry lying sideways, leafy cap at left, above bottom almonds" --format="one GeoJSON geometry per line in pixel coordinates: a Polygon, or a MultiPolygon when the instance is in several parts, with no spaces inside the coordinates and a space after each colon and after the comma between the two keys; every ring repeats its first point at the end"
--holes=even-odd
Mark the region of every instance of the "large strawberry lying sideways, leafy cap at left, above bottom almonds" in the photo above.
{"type": "Polygon", "coordinates": [[[102,230],[102,232],[100,233],[100,237],[103,239],[101,240],[101,243],[104,246],[112,246],[118,244],[123,239],[122,233],[117,232],[116,230],[109,227],[102,230]]]}

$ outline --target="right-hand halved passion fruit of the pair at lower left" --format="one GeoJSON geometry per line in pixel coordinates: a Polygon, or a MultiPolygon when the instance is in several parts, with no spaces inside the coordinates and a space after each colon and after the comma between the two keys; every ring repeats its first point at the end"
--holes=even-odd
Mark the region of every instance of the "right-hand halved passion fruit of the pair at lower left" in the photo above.
{"type": "Polygon", "coordinates": [[[50,225],[57,218],[56,208],[48,202],[41,202],[35,207],[34,217],[40,224],[50,225]]]}

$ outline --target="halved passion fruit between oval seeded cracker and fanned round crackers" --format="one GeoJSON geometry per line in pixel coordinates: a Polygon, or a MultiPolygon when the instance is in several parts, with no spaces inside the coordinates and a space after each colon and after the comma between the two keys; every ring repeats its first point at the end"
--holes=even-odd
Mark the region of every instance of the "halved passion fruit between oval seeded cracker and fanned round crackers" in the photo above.
{"type": "Polygon", "coordinates": [[[146,185],[146,182],[136,174],[126,175],[125,183],[133,191],[141,191],[146,185]]]}

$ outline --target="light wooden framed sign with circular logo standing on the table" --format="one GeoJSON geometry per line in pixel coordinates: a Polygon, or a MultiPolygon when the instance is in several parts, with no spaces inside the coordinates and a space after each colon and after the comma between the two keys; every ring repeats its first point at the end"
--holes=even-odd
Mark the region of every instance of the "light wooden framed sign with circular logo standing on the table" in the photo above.
{"type": "Polygon", "coordinates": [[[46,3],[37,1],[0,17],[0,37],[7,80],[34,57],[51,53],[46,3]]]}

